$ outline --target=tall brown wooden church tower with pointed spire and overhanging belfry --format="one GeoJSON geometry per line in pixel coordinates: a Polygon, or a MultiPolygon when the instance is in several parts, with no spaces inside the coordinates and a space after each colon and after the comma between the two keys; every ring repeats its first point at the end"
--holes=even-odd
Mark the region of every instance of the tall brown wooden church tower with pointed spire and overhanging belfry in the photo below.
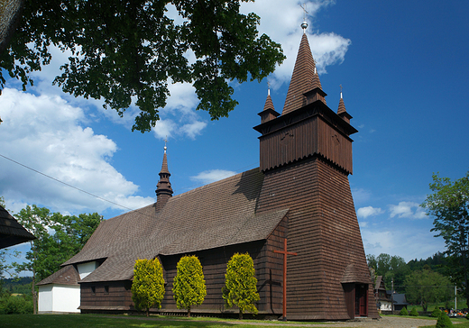
{"type": "Polygon", "coordinates": [[[264,180],[256,213],[289,209],[289,251],[298,253],[289,258],[288,319],[377,317],[348,181],[357,130],[342,97],[338,113],[326,105],[306,32],[281,115],[270,95],[259,115],[264,180]]]}

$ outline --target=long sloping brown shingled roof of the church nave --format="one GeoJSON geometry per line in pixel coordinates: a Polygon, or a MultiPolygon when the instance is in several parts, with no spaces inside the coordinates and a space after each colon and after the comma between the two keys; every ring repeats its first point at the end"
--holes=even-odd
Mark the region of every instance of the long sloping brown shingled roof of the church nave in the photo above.
{"type": "Polygon", "coordinates": [[[99,224],[87,244],[63,265],[105,260],[82,282],[126,280],[137,259],[176,255],[266,239],[288,209],[256,215],[259,169],[173,196],[99,224]]]}

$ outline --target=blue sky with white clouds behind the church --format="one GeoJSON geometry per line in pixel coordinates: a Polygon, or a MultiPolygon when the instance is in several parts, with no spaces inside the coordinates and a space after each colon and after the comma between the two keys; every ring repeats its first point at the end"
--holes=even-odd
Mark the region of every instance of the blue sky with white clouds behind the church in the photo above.
{"type": "MultiPolygon", "coordinates": [[[[301,2],[303,3],[303,2],[301,2]]],[[[339,85],[359,131],[349,177],[367,254],[406,261],[445,251],[433,219],[418,205],[433,172],[460,178],[469,169],[469,3],[467,1],[309,1],[308,40],[327,105],[336,110],[339,85]]],[[[259,165],[257,115],[267,96],[281,112],[301,38],[299,3],[258,0],[244,12],[261,16],[260,31],[282,44],[288,59],[262,83],[233,83],[239,105],[229,118],[196,112],[193,89],[171,87],[152,132],[131,132],[102,101],[75,98],[51,86],[67,54],[34,73],[23,93],[15,80],[0,96],[0,155],[14,159],[107,203],[0,157],[0,195],[18,212],[37,204],[65,214],[110,218],[154,202],[164,138],[175,194],[259,165]],[[127,209],[126,209],[127,208],[127,209]]],[[[26,246],[17,249],[24,251],[26,246]]]]}

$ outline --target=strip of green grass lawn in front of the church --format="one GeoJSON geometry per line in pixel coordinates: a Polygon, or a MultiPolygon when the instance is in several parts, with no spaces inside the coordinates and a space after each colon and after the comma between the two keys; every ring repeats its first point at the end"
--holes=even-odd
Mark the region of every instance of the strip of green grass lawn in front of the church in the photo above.
{"type": "MultiPolygon", "coordinates": [[[[236,321],[230,319],[229,321],[236,321]]],[[[184,318],[164,316],[126,316],[126,315],[100,315],[100,314],[3,314],[0,315],[0,328],[34,327],[34,328],[120,328],[120,327],[142,327],[142,328],[181,328],[181,327],[203,327],[203,328],[253,328],[253,323],[266,323],[260,320],[244,320],[241,324],[229,323],[226,319],[219,318],[184,318]],[[243,324],[251,323],[251,324],[243,324]]],[[[277,323],[281,328],[301,327],[305,323],[277,323]]],[[[317,323],[320,326],[320,323],[317,323]]],[[[261,326],[261,324],[259,324],[261,326]]]]}

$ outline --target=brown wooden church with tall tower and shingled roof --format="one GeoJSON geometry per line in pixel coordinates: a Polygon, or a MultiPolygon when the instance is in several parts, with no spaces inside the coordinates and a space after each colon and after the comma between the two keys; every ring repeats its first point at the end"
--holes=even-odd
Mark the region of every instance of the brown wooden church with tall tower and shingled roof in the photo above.
{"type": "MultiPolygon", "coordinates": [[[[259,114],[260,168],[172,196],[166,147],[153,205],[102,222],[82,251],[40,283],[40,312],[79,287],[81,313],[133,311],[137,259],[161,261],[166,294],[154,313],[179,311],[171,292],[176,264],[198,256],[207,296],[193,314],[230,314],[222,287],[235,252],[253,257],[259,314],[282,316],[283,254],[288,239],[286,310],[289,320],[378,317],[348,175],[357,132],[340,99],[326,105],[303,33],[282,113],[267,96],[259,114]],[[42,295],[42,296],[41,296],[42,295]],[[41,303],[42,297],[42,303],[41,303]],[[42,307],[41,307],[42,304],[42,307]]],[[[185,311],[185,310],[184,310],[185,311]]]]}

